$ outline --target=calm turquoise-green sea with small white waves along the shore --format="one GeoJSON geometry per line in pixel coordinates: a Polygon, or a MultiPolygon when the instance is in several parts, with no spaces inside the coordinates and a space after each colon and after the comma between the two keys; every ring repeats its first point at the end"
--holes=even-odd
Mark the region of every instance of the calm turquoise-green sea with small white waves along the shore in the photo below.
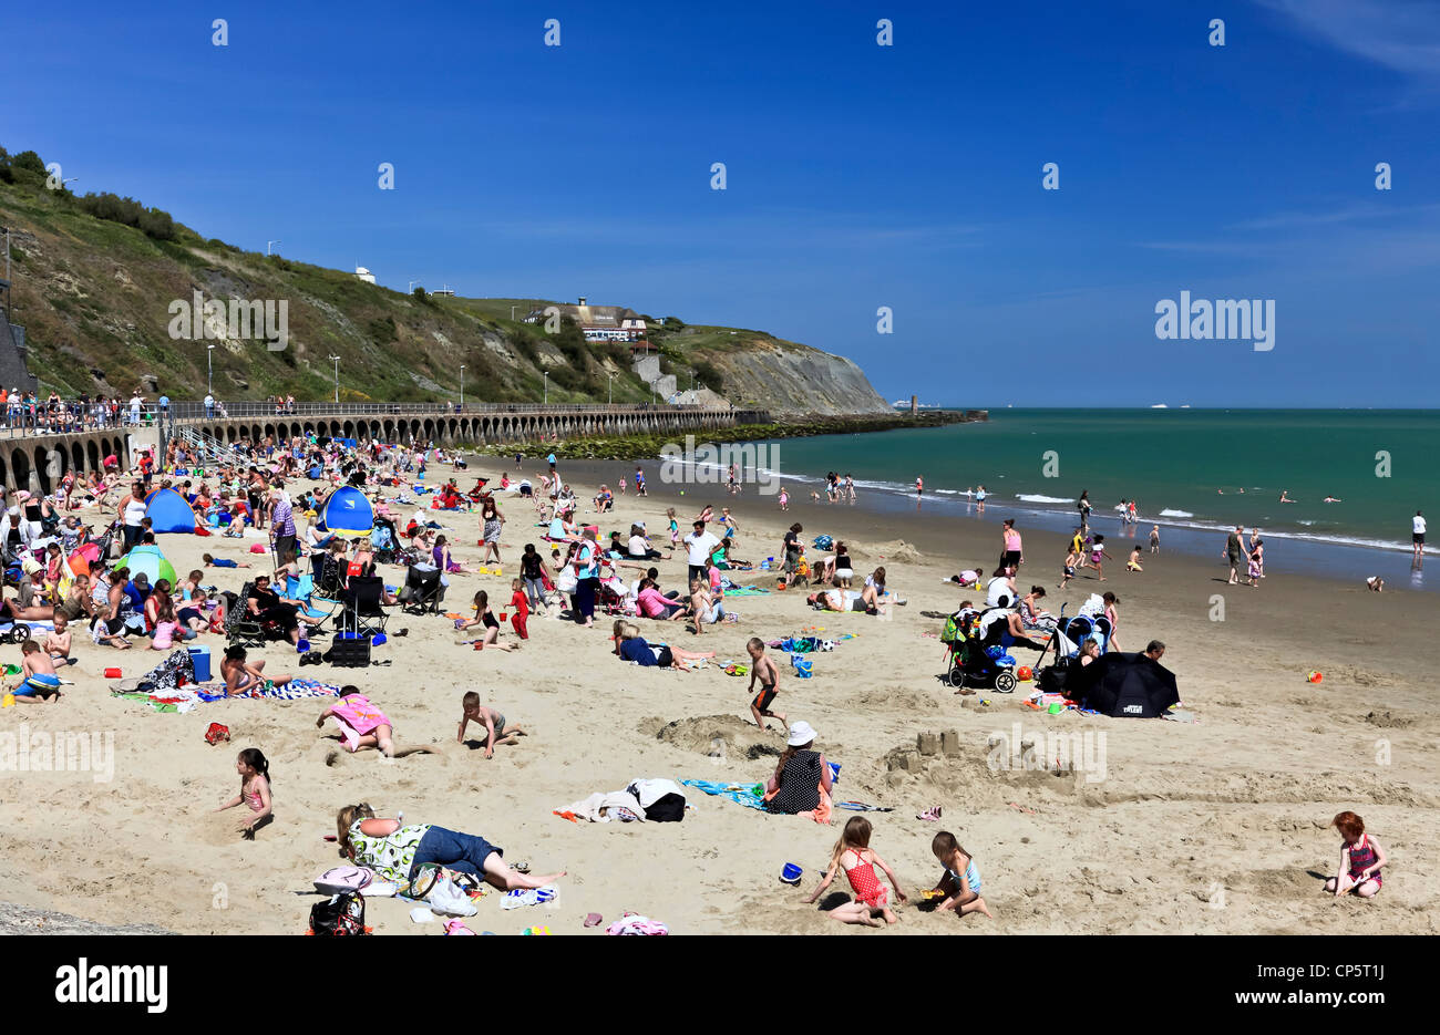
{"type": "Polygon", "coordinates": [[[1417,510],[1440,543],[1437,410],[1017,407],[978,423],[766,445],[763,466],[792,495],[835,471],[854,478],[864,505],[913,511],[923,476],[927,512],[1070,533],[1089,492],[1092,528],[1112,540],[1145,540],[1158,524],[1162,548],[1218,557],[1240,524],[1260,530],[1267,571],[1440,590],[1440,560],[1427,584],[1410,544],[1417,510]],[[1130,498],[1139,525],[1126,530],[1116,508],[1130,498]]]}

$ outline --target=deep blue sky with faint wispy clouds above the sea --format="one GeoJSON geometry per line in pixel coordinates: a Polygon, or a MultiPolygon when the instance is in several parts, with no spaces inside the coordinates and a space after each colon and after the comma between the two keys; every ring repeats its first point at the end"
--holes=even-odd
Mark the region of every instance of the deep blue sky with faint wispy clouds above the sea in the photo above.
{"type": "Polygon", "coordinates": [[[399,291],[804,341],[887,399],[1434,404],[1440,3],[210,7],[13,9],[0,145],[399,291]],[[1182,291],[1273,301],[1273,347],[1158,338],[1182,291]]]}

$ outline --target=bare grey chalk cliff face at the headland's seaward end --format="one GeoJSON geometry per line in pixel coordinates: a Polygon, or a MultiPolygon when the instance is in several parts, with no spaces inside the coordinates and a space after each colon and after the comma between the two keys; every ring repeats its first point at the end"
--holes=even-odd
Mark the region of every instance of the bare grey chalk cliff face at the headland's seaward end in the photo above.
{"type": "Polygon", "coordinates": [[[842,356],[779,338],[753,337],[730,348],[697,348],[724,376],[734,406],[760,406],[775,416],[891,413],[865,371],[842,356]]]}

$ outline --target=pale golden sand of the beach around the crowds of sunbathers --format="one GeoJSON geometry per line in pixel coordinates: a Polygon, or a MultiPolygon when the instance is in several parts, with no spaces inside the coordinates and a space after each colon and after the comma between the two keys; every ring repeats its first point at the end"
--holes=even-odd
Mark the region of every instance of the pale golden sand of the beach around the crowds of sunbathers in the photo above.
{"type": "MultiPolygon", "coordinates": [[[[528,464],[534,469],[539,464],[528,464]]],[[[680,623],[639,622],[642,635],[717,659],[744,658],[750,636],[783,638],[809,626],[824,636],[854,633],[831,654],[814,655],[814,678],[796,679],[782,664],[775,708],[805,720],[816,747],[841,763],[837,799],[893,812],[868,813],[873,848],[894,868],[904,891],[929,888],[940,868],[930,855],[937,829],[953,832],[984,875],[994,920],[926,914],[914,905],[884,931],[854,928],[802,904],[818,881],[848,815],[829,828],[770,816],[698,792],[681,823],[572,823],[553,809],[593,792],[622,789],[635,777],[760,780],[783,747],[779,733],[749,720],[747,679],[719,665],[672,672],[622,664],[611,655],[609,623],[596,628],[533,618],[517,652],[475,652],[455,643],[444,618],[395,615],[392,636],[376,656],[392,665],[367,671],[297,668],[288,646],[272,643],[271,671],[354,682],[396,721],[402,744],[436,756],[382,764],[373,751],[340,750],[315,728],[323,701],[233,700],[186,714],[161,714],[111,697],[107,666],[135,677],[164,656],[95,648],[76,632],[75,679],[56,705],[0,711],[0,734],[94,731],[114,734],[112,779],[91,772],[0,772],[0,821],[7,867],[0,901],[84,917],[102,924],[148,924],[181,933],[300,934],[315,895],[311,881],[340,859],[336,810],[369,802],[377,815],[403,810],[481,833],[508,861],[536,872],[566,869],[556,903],[503,911],[498,894],[478,903],[477,931],[517,934],[546,924],[556,934],[598,934],[582,920],[634,911],[662,920],[672,933],[1014,934],[1014,933],[1434,933],[1440,867],[1426,839],[1440,821],[1440,718],[1427,687],[1437,669],[1436,606],[1428,595],[1374,595],[1364,586],[1272,576],[1257,590],[1224,584],[1214,563],[1145,556],[1143,574],[1123,574],[1125,554],[1107,564],[1109,582],[1074,582],[1056,590],[1058,535],[1025,534],[1017,579],[1050,590],[1047,605],[1070,613],[1092,592],[1120,595],[1120,646],[1168,643],[1165,665],[1179,682],[1195,724],[1112,720],[1024,705],[1014,695],[956,697],[937,677],[945,651],[933,638],[965,595],[942,584],[960,567],[995,564],[998,521],[930,521],[876,517],[861,508],[796,501],[780,514],[773,497],[724,497],[723,487],[665,487],[647,464],[649,498],[618,497],[605,535],[642,520],[657,546],[665,507],[685,530],[706,502],[729,504],[742,525],[734,553],[763,560],[780,553],[791,521],[851,543],[857,576],[888,569],[890,589],[907,600],[888,620],[855,613],[815,613],[799,592],[733,602],[740,620],[697,639],[680,623]],[[1211,620],[1215,596],[1224,620],[1211,620]],[[930,633],[930,635],[927,635],[930,633]],[[1308,684],[1309,669],[1323,672],[1308,684]],[[492,760],[455,743],[461,695],[474,690],[533,736],[500,747],[492,760]],[[233,743],[210,747],[212,721],[233,743]],[[1021,740],[1050,731],[1103,734],[1103,766],[994,767],[995,737],[1021,740]],[[952,753],[916,753],[917,737],[955,731],[952,753]],[[210,809],[236,793],[235,751],[259,747],[271,760],[275,822],[253,842],[235,832],[236,810],[210,809]],[[939,823],[916,813],[939,805],[939,823]],[[1331,818],[1354,809],[1390,854],[1384,891],[1374,901],[1320,894],[1339,838],[1331,818]],[[1426,832],[1430,833],[1426,833],[1426,832]],[[799,888],[778,877],[786,862],[805,869],[799,888]]],[[[498,475],[495,458],[471,461],[468,474],[498,475]]],[[[513,469],[513,466],[511,466],[513,469]]],[[[562,472],[592,518],[599,478],[634,465],[566,465],[562,472]]],[[[436,472],[439,474],[439,472],[436,472]]],[[[433,475],[432,475],[433,479],[433,475]]],[[[469,484],[462,478],[462,484],[469,484]]],[[[508,600],[520,550],[539,543],[528,501],[503,497],[507,515],[503,577],[452,576],[446,610],[468,612],[477,589],[508,600]]],[[[477,515],[445,514],[461,561],[474,564],[477,515]]],[[[245,544],[258,541],[255,537],[245,544]]],[[[1116,538],[1112,543],[1119,546],[1116,538]]],[[[167,557],[181,574],[202,551],[268,564],[235,540],[166,535],[167,557]]],[[[684,556],[660,561],[667,589],[678,587],[684,556]]],[[[212,570],[207,582],[236,590],[245,573],[212,570]]],[[[400,569],[383,569],[392,584],[400,569]]],[[[733,573],[744,584],[775,586],[770,573],[733,573]]],[[[507,632],[508,635],[508,632],[507,632]]],[[[513,636],[511,636],[513,639],[513,636]]],[[[147,643],[135,641],[137,648],[147,643]]],[[[203,638],[216,658],[217,636],[203,638]]],[[[19,662],[19,648],[0,649],[19,662]]],[[[778,656],[783,662],[783,655],[778,656]]],[[[841,878],[840,887],[844,887],[841,878]]],[[[439,934],[439,924],[410,921],[410,904],[370,900],[379,934],[439,934]]],[[[26,914],[27,916],[27,914],[26,914]]]]}

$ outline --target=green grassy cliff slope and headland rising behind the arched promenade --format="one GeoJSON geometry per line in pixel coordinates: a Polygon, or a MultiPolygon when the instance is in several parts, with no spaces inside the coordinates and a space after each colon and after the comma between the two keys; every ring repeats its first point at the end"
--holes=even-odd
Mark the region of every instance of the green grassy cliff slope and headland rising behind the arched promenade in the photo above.
{"type": "MultiPolygon", "coordinates": [[[[128,394],[150,381],[176,399],[204,394],[207,341],[171,333],[171,304],[190,305],[199,291],[223,304],[287,302],[287,348],[271,351],[255,334],[215,341],[222,399],[328,399],[331,356],[350,402],[455,400],[461,364],[475,402],[539,402],[544,373],[552,402],[605,402],[612,390],[615,402],[651,399],[628,347],[588,344],[569,322],[553,335],[521,322],[544,299],[406,295],[347,271],[246,252],[131,199],[52,190],[35,153],[0,148],[0,223],[10,227],[12,322],[26,327],[42,392],[128,394]]],[[[681,389],[700,381],[737,406],[883,406],[848,360],[762,333],[671,320],[652,340],[681,389]]]]}

